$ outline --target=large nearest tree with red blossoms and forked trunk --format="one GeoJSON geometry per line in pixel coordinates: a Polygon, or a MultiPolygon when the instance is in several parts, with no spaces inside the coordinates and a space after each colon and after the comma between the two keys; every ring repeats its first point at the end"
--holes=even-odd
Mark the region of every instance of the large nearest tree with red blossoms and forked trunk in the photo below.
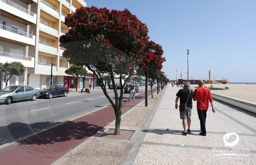
{"type": "Polygon", "coordinates": [[[107,8],[81,7],[74,14],[68,14],[65,24],[70,28],[60,37],[61,46],[66,48],[63,57],[70,63],[86,65],[96,76],[99,86],[111,103],[116,115],[115,134],[120,134],[122,97],[127,79],[140,66],[145,66],[152,58],[146,59],[145,46],[148,45],[148,28],[128,9],[123,11],[107,8]],[[146,62],[146,63],[145,63],[146,62]],[[102,74],[119,75],[120,95],[113,85],[115,101],[108,95],[102,74]]]}

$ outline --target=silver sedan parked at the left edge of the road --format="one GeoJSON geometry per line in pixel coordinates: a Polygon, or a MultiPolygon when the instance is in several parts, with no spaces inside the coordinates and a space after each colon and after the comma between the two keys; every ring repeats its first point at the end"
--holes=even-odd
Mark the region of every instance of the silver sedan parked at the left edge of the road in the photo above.
{"type": "Polygon", "coordinates": [[[12,101],[35,101],[40,96],[40,90],[26,85],[11,85],[0,91],[0,103],[11,104],[12,101]]]}

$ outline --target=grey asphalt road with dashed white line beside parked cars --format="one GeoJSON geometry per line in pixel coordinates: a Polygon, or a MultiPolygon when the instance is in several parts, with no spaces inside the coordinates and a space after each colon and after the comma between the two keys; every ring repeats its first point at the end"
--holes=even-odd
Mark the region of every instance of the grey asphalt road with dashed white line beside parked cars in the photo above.
{"type": "MultiPolygon", "coordinates": [[[[140,86],[138,94],[143,91],[145,86],[140,86]]],[[[108,90],[108,94],[114,99],[113,90],[108,90]]],[[[128,95],[124,94],[123,99],[128,98],[128,95]]],[[[107,105],[110,102],[101,90],[51,100],[38,99],[0,105],[0,145],[107,105]]]]}

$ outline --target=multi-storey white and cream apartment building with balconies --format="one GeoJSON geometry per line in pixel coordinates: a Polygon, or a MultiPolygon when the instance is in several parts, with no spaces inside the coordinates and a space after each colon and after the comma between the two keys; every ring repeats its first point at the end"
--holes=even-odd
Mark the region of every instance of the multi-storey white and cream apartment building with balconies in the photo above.
{"type": "Polygon", "coordinates": [[[65,74],[70,67],[62,58],[59,36],[68,31],[65,16],[86,6],[84,0],[0,0],[0,63],[19,61],[24,75],[9,85],[31,85],[42,89],[52,84],[74,84],[65,74]]]}

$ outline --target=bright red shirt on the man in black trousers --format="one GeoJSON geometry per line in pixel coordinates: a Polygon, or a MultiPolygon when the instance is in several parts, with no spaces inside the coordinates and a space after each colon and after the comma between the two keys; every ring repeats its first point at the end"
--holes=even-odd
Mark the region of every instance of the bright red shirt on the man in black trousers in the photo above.
{"type": "Polygon", "coordinates": [[[212,102],[212,94],[209,88],[204,85],[198,87],[194,91],[193,100],[196,101],[196,107],[200,110],[207,110],[209,108],[209,101],[212,102]]]}

